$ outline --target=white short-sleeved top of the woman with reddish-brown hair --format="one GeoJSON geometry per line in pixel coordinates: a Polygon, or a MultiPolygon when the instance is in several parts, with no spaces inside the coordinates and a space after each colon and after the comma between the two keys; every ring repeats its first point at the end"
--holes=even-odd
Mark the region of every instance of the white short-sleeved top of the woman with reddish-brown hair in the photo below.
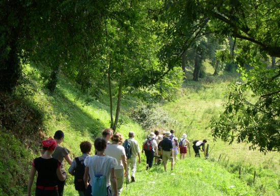
{"type": "Polygon", "coordinates": [[[118,161],[118,165],[115,169],[123,169],[122,155],[125,155],[124,147],[118,144],[108,144],[105,150],[105,155],[114,157],[118,161]]]}

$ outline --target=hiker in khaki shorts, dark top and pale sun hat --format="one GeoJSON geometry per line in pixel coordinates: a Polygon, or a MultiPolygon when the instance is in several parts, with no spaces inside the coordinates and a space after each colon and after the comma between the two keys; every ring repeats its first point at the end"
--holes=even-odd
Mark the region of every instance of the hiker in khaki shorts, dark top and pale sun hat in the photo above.
{"type": "Polygon", "coordinates": [[[173,170],[174,161],[173,161],[173,145],[170,139],[171,132],[167,131],[165,137],[161,141],[162,148],[162,161],[164,162],[164,171],[166,172],[167,161],[171,161],[171,170],[173,170]]]}

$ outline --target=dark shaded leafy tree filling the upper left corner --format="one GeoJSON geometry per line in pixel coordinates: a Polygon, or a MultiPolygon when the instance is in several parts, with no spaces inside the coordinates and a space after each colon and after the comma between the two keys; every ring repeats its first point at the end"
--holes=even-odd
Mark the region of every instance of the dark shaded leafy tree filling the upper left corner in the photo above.
{"type": "Polygon", "coordinates": [[[20,60],[49,66],[47,87],[53,91],[59,70],[73,73],[80,62],[89,64],[99,53],[102,14],[109,2],[2,1],[0,5],[1,91],[12,92],[17,85],[20,60]]]}

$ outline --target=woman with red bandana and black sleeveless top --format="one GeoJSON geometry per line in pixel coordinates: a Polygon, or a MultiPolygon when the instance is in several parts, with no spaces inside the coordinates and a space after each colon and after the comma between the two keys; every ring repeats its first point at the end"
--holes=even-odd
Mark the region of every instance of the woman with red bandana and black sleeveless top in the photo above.
{"type": "Polygon", "coordinates": [[[52,153],[57,147],[55,139],[48,138],[42,142],[43,153],[40,157],[35,158],[29,175],[27,186],[27,196],[31,195],[31,187],[34,181],[36,171],[38,177],[36,181],[36,196],[58,196],[58,179],[65,180],[61,172],[61,162],[52,158],[52,153]]]}

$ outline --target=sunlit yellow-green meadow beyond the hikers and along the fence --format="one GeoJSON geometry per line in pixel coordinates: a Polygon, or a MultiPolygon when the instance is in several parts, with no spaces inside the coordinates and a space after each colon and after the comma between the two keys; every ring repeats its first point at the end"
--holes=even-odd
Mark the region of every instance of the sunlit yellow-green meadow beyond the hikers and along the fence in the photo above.
{"type": "Polygon", "coordinates": [[[280,156],[277,152],[264,155],[259,151],[249,150],[248,144],[234,142],[228,145],[219,140],[213,142],[208,127],[209,122],[212,118],[218,118],[219,113],[223,111],[223,95],[229,84],[229,81],[223,81],[223,79],[218,81],[209,83],[187,80],[181,89],[180,98],[176,102],[162,105],[162,108],[179,122],[173,127],[176,130],[176,136],[181,136],[185,132],[190,141],[207,138],[210,149],[215,144],[211,152],[212,157],[217,158],[222,154],[229,157],[230,161],[266,166],[279,173],[280,156]]]}

